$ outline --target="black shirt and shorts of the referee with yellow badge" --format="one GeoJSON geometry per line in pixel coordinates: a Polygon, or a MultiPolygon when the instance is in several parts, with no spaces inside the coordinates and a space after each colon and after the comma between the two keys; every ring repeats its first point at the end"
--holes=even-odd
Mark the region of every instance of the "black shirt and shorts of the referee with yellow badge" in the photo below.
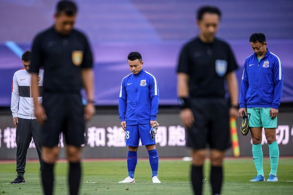
{"type": "Polygon", "coordinates": [[[64,133],[67,144],[85,143],[81,69],[92,65],[88,41],[77,30],[61,35],[51,27],[35,37],[30,71],[38,73],[40,66],[45,70],[43,106],[47,120],[42,128],[43,146],[56,146],[60,132],[64,133]]]}

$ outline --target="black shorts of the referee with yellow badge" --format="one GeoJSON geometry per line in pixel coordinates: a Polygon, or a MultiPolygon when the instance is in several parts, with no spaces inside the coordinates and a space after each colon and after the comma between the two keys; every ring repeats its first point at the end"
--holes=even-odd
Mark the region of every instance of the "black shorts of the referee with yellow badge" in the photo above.
{"type": "Polygon", "coordinates": [[[59,143],[60,132],[66,144],[81,146],[85,143],[84,106],[80,94],[44,93],[43,106],[47,120],[42,127],[42,146],[59,143]]]}

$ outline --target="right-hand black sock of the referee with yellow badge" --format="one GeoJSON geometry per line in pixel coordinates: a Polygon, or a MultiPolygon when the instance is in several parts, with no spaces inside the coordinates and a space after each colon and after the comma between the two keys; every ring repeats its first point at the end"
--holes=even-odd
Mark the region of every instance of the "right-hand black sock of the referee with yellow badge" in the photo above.
{"type": "Polygon", "coordinates": [[[81,177],[81,166],[80,162],[71,163],[69,162],[69,190],[70,195],[78,194],[79,184],[81,177]]]}

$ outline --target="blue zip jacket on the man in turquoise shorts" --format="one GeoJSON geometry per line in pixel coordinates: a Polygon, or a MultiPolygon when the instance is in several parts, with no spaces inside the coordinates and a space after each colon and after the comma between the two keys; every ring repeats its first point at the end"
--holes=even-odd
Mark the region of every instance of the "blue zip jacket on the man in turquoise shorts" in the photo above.
{"type": "Polygon", "coordinates": [[[259,63],[255,53],[248,56],[241,81],[240,108],[278,109],[283,80],[282,62],[278,56],[267,50],[259,63]]]}

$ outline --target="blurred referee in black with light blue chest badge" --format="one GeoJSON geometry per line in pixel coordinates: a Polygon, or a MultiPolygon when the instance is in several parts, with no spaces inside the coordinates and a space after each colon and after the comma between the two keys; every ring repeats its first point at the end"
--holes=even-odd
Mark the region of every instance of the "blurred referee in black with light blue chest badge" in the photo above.
{"type": "Polygon", "coordinates": [[[213,194],[220,194],[222,163],[231,146],[229,115],[237,116],[237,64],[229,45],[215,38],[221,12],[201,7],[197,12],[199,35],[183,46],[178,64],[180,117],[187,128],[187,146],[192,149],[191,180],[195,194],[202,194],[202,166],[210,148],[210,181],[213,194]],[[228,84],[231,108],[225,99],[228,84]]]}

